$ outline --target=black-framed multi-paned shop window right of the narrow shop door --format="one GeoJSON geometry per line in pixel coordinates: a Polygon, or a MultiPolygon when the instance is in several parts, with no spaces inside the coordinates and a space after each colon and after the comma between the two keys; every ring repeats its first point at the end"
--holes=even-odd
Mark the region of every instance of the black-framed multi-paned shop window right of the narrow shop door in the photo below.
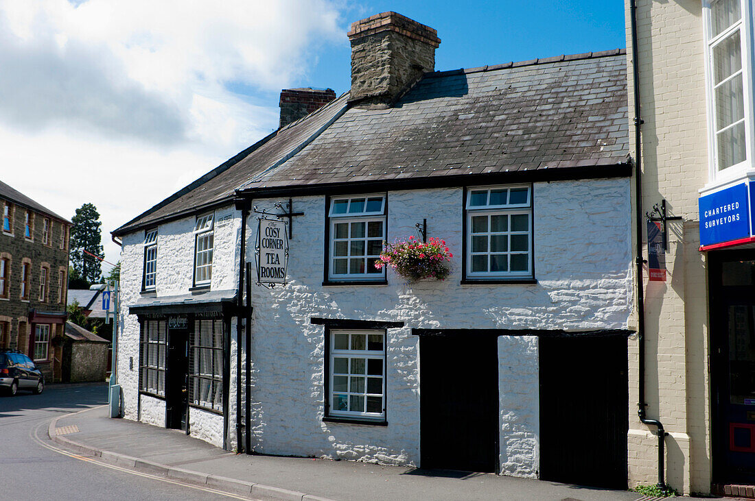
{"type": "Polygon", "coordinates": [[[222,412],[223,321],[195,320],[189,350],[189,403],[222,412]]]}

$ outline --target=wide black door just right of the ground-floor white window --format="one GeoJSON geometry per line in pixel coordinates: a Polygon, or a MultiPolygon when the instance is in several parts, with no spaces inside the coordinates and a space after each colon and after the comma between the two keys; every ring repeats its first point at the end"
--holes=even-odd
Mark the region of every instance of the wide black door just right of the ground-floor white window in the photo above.
{"type": "Polygon", "coordinates": [[[420,338],[422,468],[498,472],[495,336],[420,338]]]}

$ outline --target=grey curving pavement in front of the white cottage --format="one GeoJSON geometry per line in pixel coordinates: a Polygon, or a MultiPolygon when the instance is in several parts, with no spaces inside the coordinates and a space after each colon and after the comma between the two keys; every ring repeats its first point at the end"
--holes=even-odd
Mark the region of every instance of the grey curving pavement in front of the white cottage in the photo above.
{"type": "Polygon", "coordinates": [[[177,430],[109,418],[107,406],[57,417],[48,434],[57,444],[83,456],[250,499],[653,499],[621,490],[486,473],[234,454],[177,430]]]}

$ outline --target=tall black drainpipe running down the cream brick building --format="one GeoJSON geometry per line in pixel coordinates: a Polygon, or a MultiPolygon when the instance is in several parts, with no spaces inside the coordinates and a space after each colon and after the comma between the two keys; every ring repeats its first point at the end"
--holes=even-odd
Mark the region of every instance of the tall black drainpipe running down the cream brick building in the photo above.
{"type": "Polygon", "coordinates": [[[636,276],[637,276],[637,341],[639,350],[639,402],[637,402],[637,416],[639,416],[640,423],[656,426],[658,428],[658,487],[661,489],[666,488],[666,482],[664,481],[664,438],[667,433],[664,431],[663,424],[659,420],[647,419],[646,410],[647,404],[645,402],[645,299],[643,291],[643,183],[642,183],[642,169],[640,163],[642,159],[642,134],[640,133],[640,126],[643,124],[643,120],[640,115],[639,107],[639,63],[637,61],[637,5],[635,0],[630,0],[630,18],[632,22],[632,78],[634,83],[634,181],[636,184],[636,240],[637,240],[637,255],[636,255],[636,276]]]}

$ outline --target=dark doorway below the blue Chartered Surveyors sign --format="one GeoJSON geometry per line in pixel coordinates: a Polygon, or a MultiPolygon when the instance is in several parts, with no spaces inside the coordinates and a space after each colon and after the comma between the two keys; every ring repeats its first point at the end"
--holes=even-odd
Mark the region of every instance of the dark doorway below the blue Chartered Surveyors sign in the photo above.
{"type": "Polygon", "coordinates": [[[710,255],[713,482],[755,482],[755,252],[710,255]]]}

